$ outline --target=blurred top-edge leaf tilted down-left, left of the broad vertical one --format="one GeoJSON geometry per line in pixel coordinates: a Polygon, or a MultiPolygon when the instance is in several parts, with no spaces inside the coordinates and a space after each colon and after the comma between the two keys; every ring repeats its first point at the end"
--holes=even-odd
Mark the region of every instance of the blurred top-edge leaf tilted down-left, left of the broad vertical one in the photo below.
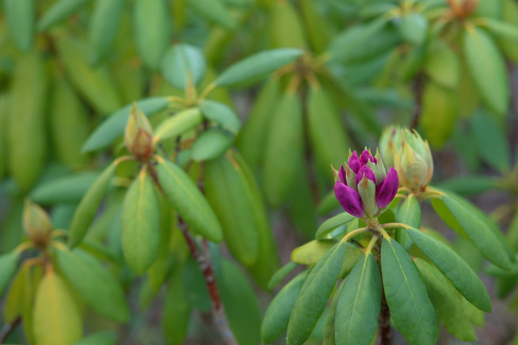
{"type": "Polygon", "coordinates": [[[94,63],[108,55],[124,10],[124,0],[97,0],[88,25],[88,38],[94,63]]]}

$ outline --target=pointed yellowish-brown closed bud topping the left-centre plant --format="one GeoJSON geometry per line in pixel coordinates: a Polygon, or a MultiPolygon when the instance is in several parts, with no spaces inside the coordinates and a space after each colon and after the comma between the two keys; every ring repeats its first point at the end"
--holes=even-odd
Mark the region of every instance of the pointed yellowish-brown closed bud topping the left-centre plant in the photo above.
{"type": "Polygon", "coordinates": [[[124,130],[124,144],[138,159],[145,161],[153,155],[153,128],[144,112],[133,103],[128,124],[124,130]]]}

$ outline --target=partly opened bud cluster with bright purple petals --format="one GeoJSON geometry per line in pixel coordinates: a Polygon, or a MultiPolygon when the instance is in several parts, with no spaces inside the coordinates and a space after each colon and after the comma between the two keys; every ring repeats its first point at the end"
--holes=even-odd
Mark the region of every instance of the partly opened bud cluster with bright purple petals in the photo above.
{"type": "Polygon", "coordinates": [[[349,150],[349,160],[334,170],[334,193],[340,205],[355,217],[378,217],[396,196],[399,177],[391,167],[385,170],[376,150],[372,157],[370,150],[364,150],[360,157],[349,150]]]}

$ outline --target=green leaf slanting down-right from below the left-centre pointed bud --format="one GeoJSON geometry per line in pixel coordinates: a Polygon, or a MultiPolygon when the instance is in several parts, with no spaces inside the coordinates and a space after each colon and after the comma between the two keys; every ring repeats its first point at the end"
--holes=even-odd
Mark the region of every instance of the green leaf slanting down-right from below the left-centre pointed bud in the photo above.
{"type": "Polygon", "coordinates": [[[189,175],[164,159],[158,160],[157,172],[166,199],[189,226],[189,230],[210,241],[221,242],[223,233],[218,218],[189,175]]]}

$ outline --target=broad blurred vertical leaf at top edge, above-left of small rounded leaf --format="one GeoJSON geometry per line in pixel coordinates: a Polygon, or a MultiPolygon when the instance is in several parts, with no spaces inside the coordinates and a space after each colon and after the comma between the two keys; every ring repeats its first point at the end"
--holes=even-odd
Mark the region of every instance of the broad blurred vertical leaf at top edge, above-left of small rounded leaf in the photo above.
{"type": "Polygon", "coordinates": [[[151,70],[160,67],[169,45],[169,8],[162,0],[136,0],[133,4],[133,28],[137,52],[151,70]]]}

